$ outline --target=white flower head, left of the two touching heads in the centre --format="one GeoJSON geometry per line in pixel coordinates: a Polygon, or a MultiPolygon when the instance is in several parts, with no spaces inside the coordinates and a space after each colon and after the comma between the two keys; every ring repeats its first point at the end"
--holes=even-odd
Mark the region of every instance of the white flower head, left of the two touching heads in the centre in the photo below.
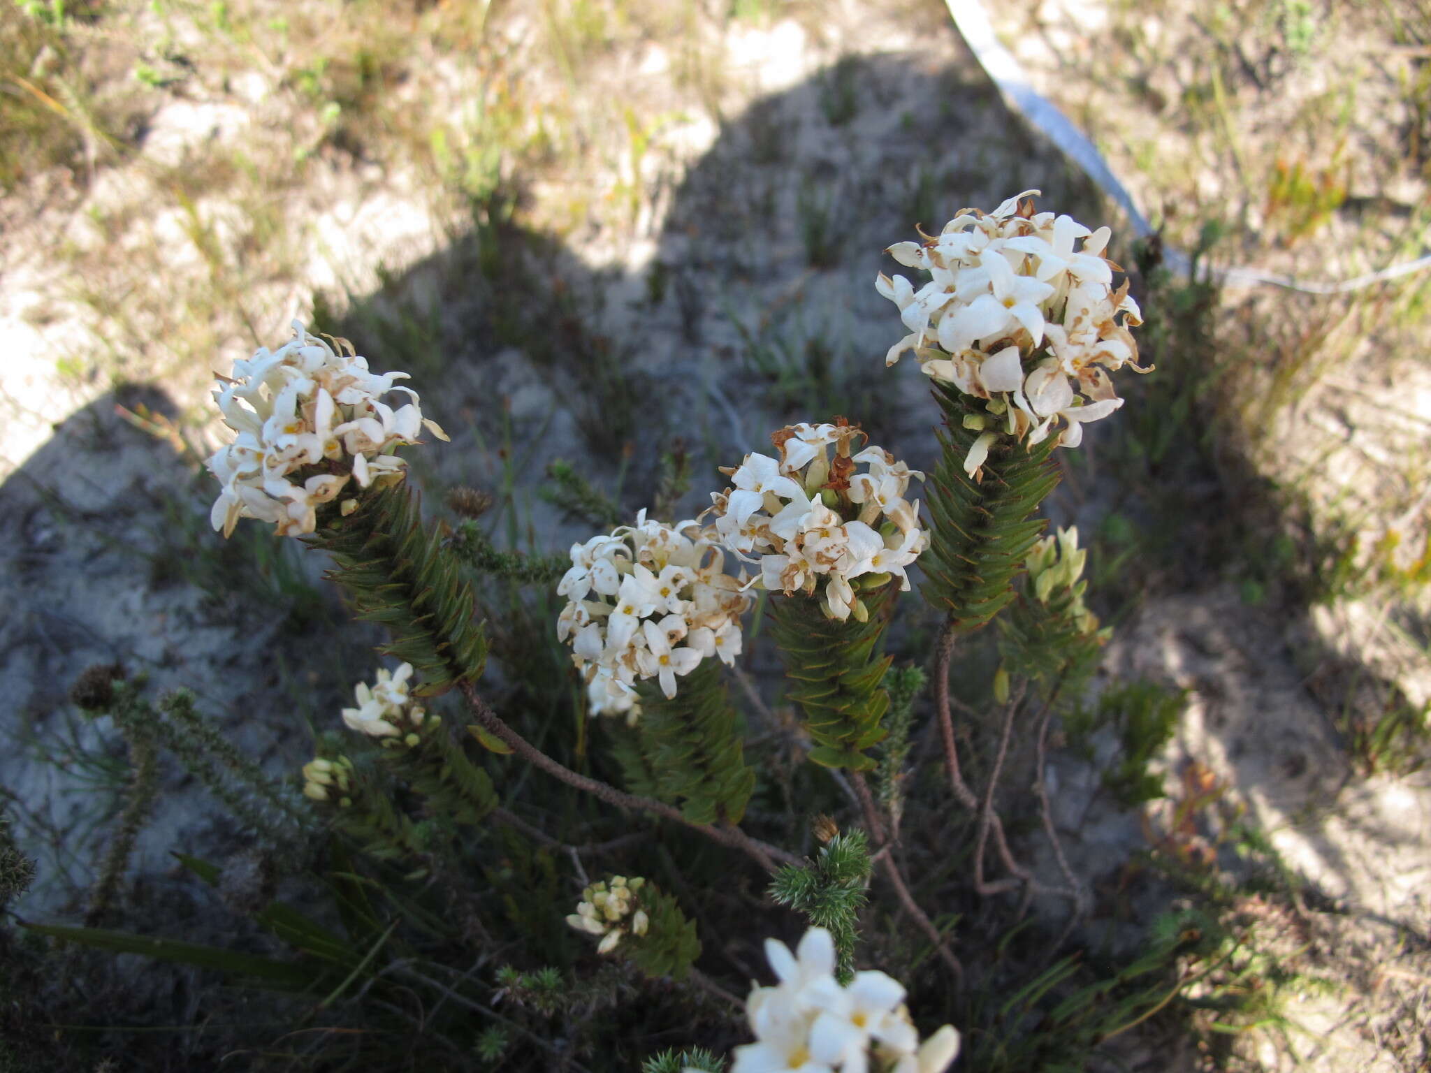
{"type": "Polygon", "coordinates": [[[751,599],[724,564],[713,529],[694,521],[665,525],[645,511],[635,525],[571,545],[571,569],[557,585],[568,601],[557,637],[571,640],[591,714],[634,722],[637,681],[655,678],[670,698],[677,675],[704,657],[734,662],[751,599]]]}

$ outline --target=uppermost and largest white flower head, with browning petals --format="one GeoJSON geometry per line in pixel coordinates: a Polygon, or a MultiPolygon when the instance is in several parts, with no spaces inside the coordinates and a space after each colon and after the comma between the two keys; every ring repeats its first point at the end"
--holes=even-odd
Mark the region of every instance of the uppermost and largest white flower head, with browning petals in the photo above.
{"type": "MultiPolygon", "coordinates": [[[[889,248],[900,265],[932,279],[919,290],[903,276],[881,272],[876,280],[909,329],[884,363],[913,349],[929,376],[986,399],[990,423],[1003,422],[1032,445],[1062,419],[1058,442],[1078,446],[1083,422],[1123,405],[1108,372],[1125,365],[1149,372],[1128,330],[1142,316],[1126,280],[1113,289],[1118,266],[1103,258],[1109,229],[1035,213],[1023,199],[1036,193],[1025,190],[992,213],[962,209],[939,235],[920,232],[923,242],[889,248]]],[[[995,438],[990,429],[975,442],[964,461],[970,475],[995,438]]]]}

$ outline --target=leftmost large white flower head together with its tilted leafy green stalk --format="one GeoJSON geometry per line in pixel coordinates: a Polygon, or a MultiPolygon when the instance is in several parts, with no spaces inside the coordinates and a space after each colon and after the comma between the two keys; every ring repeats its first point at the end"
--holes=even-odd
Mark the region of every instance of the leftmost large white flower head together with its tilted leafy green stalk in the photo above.
{"type": "Polygon", "coordinates": [[[386,652],[412,664],[428,694],[481,675],[487,645],[472,624],[472,595],[459,564],[422,525],[395,452],[424,429],[418,393],[395,385],[405,372],[376,373],[352,345],[309,335],[260,348],[220,376],[215,401],[238,435],[206,462],[222,492],[210,521],[228,536],[239,518],[306,536],[333,557],[329,578],[361,618],[382,622],[386,652]],[[394,408],[392,393],[406,401],[394,408]],[[359,494],[361,489],[368,489],[359,494]]]}

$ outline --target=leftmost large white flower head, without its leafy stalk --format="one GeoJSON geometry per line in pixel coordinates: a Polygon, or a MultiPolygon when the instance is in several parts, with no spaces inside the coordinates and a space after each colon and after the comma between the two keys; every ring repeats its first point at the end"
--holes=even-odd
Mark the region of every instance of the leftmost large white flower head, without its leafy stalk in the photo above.
{"type": "MultiPolygon", "coordinates": [[[[239,433],[206,462],[223,485],[209,516],[225,536],[239,518],[275,522],[280,536],[312,532],[315,508],[335,499],[349,478],[361,488],[401,478],[405,462],[392,451],[415,444],[424,426],[446,439],[422,416],[418,393],[394,386],[408,373],[369,372],[346,340],[333,342],[339,351],[295,320],[285,346],[260,348],[233,363],[232,378],[219,378],[213,398],[239,433]],[[395,391],[411,401],[396,409],[379,402],[395,391]]],[[[355,505],[345,501],[345,514],[355,505]]]]}

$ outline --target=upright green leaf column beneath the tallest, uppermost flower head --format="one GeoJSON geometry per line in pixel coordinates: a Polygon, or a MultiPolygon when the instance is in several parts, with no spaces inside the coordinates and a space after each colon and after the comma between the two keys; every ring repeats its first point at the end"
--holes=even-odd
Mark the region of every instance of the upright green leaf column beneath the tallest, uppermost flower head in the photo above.
{"type": "Polygon", "coordinates": [[[1015,598],[1013,577],[1043,531],[1029,518],[1058,484],[1053,436],[1032,448],[1000,436],[989,449],[980,481],[964,472],[979,429],[964,428],[975,409],[957,389],[936,383],[944,412],[939,465],[926,485],[933,532],[920,557],[924,598],[947,611],[960,634],[986,625],[1015,598]]]}

